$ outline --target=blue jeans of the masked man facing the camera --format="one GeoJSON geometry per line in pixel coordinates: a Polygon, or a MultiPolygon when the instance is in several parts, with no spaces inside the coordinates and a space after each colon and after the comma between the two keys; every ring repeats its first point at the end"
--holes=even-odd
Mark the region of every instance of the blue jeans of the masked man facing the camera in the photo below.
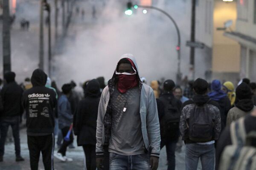
{"type": "Polygon", "coordinates": [[[124,156],[109,153],[109,170],[150,170],[148,154],[124,156]]]}

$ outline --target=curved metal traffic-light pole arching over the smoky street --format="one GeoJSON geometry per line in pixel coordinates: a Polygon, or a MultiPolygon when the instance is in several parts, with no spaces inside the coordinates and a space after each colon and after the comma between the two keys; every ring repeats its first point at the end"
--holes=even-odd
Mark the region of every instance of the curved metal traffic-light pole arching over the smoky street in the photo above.
{"type": "Polygon", "coordinates": [[[177,26],[177,23],[175,22],[175,20],[172,18],[171,15],[169,15],[166,11],[160,9],[160,8],[157,8],[157,7],[154,7],[154,6],[141,6],[141,5],[137,5],[138,7],[140,8],[151,8],[151,9],[155,9],[157,11],[160,11],[162,12],[163,14],[165,14],[171,21],[172,23],[174,24],[175,26],[175,29],[177,31],[177,36],[178,36],[178,42],[177,42],[177,46],[176,46],[176,51],[177,51],[177,59],[178,59],[178,63],[177,63],[177,75],[176,75],[176,82],[177,84],[180,84],[181,82],[181,72],[180,72],[180,30],[177,26]]]}

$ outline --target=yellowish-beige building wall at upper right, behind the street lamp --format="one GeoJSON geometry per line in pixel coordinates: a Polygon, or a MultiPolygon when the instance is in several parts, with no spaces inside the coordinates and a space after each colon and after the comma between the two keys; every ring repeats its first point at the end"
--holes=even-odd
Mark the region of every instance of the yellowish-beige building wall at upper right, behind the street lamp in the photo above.
{"type": "Polygon", "coordinates": [[[224,31],[216,29],[224,27],[224,23],[227,20],[232,20],[233,25],[230,27],[230,30],[235,30],[236,17],[236,1],[225,3],[222,0],[215,0],[213,11],[212,47],[212,72],[216,73],[214,75],[221,75],[221,73],[223,73],[223,75],[230,73],[232,73],[232,75],[233,73],[239,75],[240,45],[235,40],[224,37],[224,31]]]}

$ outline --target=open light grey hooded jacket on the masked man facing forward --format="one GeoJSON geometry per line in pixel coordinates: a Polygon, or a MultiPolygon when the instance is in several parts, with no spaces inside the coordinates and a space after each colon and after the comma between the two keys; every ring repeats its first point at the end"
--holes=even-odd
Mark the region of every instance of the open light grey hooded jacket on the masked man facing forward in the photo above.
{"type": "MultiPolygon", "coordinates": [[[[122,58],[131,59],[139,72],[137,62],[132,54],[124,54],[122,58]]],[[[120,60],[119,59],[119,60],[120,60]]],[[[99,102],[99,111],[97,118],[96,129],[96,157],[104,156],[103,146],[109,145],[111,136],[111,98],[113,96],[115,73],[112,79],[109,80],[108,86],[102,91],[102,96],[99,102]]],[[[148,152],[151,149],[151,156],[159,158],[160,155],[160,126],[157,113],[157,103],[151,87],[140,84],[140,120],[141,132],[144,142],[144,150],[148,152]]]]}

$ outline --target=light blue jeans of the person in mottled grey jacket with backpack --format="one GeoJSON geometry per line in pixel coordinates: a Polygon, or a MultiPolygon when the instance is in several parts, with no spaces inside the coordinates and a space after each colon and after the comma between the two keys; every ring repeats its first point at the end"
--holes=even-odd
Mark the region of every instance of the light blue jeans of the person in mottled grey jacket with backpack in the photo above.
{"type": "Polygon", "coordinates": [[[214,170],[214,144],[186,144],[186,170],[197,170],[199,158],[202,170],[214,170]]]}

